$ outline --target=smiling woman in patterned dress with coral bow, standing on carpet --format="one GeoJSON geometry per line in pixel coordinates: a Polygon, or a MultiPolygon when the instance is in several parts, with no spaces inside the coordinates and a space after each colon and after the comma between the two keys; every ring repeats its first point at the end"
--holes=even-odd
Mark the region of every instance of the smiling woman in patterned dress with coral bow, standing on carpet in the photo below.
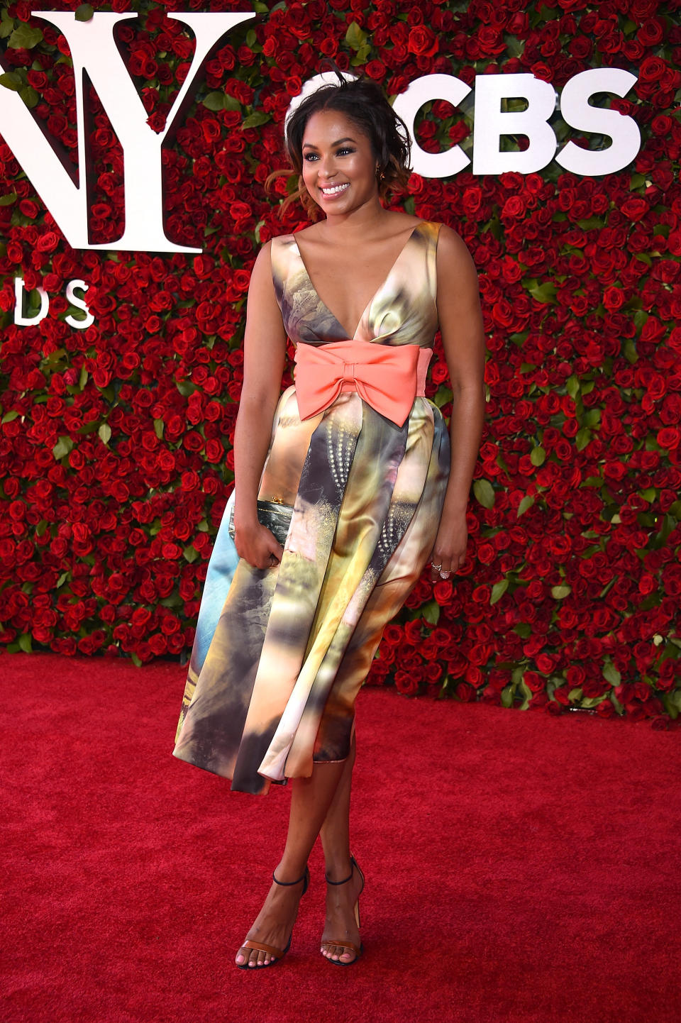
{"type": "Polygon", "coordinates": [[[287,951],[318,835],[321,951],[344,966],[362,952],[364,877],[349,825],[355,698],[428,555],[434,581],[464,561],[484,415],[475,269],[456,232],[382,206],[408,180],[409,140],[380,89],[322,86],[291,115],[286,147],[299,196],[323,219],[264,244],[253,268],[235,552],[222,526],[174,751],[233,789],[290,781],[285,847],[236,953],[241,968],[287,951]],[[438,326],[454,393],[451,455],[423,396],[438,326]],[[296,387],[279,395],[286,336],[296,387]]]}

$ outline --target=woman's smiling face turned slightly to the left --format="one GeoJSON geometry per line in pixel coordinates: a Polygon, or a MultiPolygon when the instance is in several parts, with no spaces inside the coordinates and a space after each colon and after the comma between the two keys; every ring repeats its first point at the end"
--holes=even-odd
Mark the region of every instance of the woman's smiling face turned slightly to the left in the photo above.
{"type": "Polygon", "coordinates": [[[371,141],[337,110],[313,114],[303,134],[303,181],[325,214],[350,213],[378,197],[371,141]]]}

